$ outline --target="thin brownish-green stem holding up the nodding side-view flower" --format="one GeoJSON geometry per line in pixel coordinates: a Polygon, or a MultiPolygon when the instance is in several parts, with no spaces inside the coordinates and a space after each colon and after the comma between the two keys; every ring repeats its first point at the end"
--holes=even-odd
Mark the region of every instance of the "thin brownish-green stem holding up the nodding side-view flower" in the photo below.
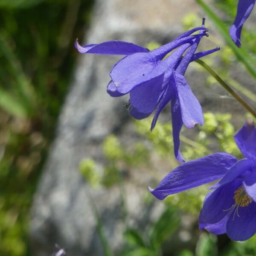
{"type": "Polygon", "coordinates": [[[204,61],[196,60],[195,62],[204,67],[221,84],[222,87],[224,87],[241,105],[243,105],[247,111],[256,117],[256,111],[254,111],[226,82],[224,82],[214,70],[212,70],[204,61]]]}

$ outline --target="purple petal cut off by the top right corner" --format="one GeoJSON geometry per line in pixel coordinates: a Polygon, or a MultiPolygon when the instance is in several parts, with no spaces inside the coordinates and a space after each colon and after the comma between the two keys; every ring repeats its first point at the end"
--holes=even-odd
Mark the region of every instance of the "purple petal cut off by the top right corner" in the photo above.
{"type": "Polygon", "coordinates": [[[239,0],[236,12],[236,18],[232,26],[230,27],[230,37],[237,45],[237,47],[241,47],[241,30],[244,25],[244,22],[249,17],[251,11],[253,10],[253,6],[255,4],[255,0],[239,0]]]}

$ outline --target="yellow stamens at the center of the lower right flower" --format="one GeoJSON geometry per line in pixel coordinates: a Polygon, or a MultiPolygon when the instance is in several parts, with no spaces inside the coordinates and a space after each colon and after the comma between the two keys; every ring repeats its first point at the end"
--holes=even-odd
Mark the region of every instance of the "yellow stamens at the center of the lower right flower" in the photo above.
{"type": "Polygon", "coordinates": [[[235,195],[234,195],[233,199],[235,200],[235,204],[233,204],[229,209],[223,210],[224,212],[226,212],[226,211],[229,211],[230,209],[236,207],[236,209],[234,211],[234,215],[233,215],[233,220],[234,220],[236,214],[238,217],[240,217],[240,215],[238,214],[239,207],[246,207],[253,201],[253,199],[249,195],[247,195],[243,185],[240,186],[238,189],[236,189],[234,194],[235,195]]]}

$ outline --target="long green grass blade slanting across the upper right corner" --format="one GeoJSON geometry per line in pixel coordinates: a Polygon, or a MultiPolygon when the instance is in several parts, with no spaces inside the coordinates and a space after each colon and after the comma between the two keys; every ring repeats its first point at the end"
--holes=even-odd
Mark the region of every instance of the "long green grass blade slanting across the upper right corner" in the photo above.
{"type": "Polygon", "coordinates": [[[229,47],[233,50],[236,57],[241,61],[244,66],[247,68],[249,73],[256,79],[256,61],[250,57],[250,54],[244,48],[238,48],[232,39],[230,38],[228,29],[224,22],[217,16],[215,13],[204,3],[203,0],[196,0],[198,4],[204,9],[204,12],[211,18],[213,23],[215,24],[218,31],[221,33],[222,37],[229,45],[229,47]]]}

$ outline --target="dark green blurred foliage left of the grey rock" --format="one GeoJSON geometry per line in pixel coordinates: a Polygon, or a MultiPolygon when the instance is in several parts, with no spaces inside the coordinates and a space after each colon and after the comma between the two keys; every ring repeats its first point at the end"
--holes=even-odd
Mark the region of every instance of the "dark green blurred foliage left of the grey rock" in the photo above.
{"type": "Polygon", "coordinates": [[[30,255],[28,219],[93,0],[0,0],[0,255],[30,255]]]}

